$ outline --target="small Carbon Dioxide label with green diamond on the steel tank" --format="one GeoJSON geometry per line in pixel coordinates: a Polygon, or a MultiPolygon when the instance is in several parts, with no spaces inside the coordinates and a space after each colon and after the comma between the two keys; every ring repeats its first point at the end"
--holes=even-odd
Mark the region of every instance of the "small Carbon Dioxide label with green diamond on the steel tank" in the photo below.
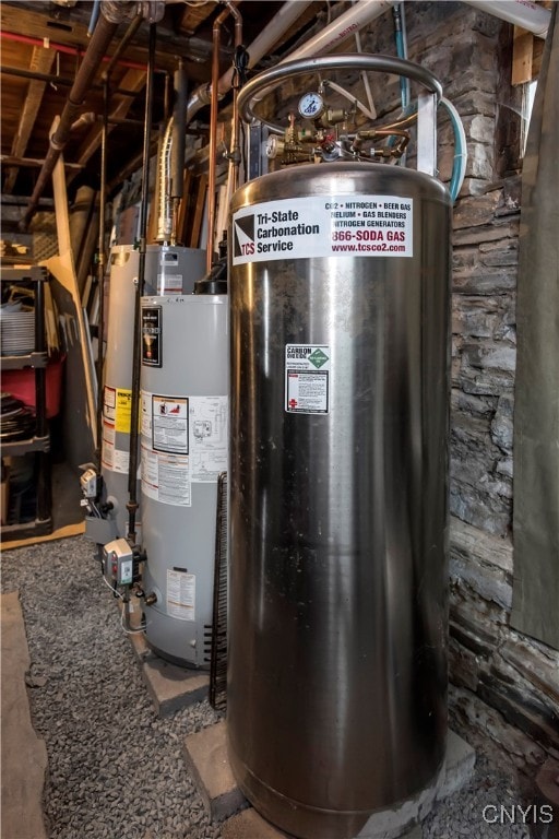
{"type": "Polygon", "coordinates": [[[330,346],[285,345],[285,410],[288,414],[328,414],[330,346]]]}

